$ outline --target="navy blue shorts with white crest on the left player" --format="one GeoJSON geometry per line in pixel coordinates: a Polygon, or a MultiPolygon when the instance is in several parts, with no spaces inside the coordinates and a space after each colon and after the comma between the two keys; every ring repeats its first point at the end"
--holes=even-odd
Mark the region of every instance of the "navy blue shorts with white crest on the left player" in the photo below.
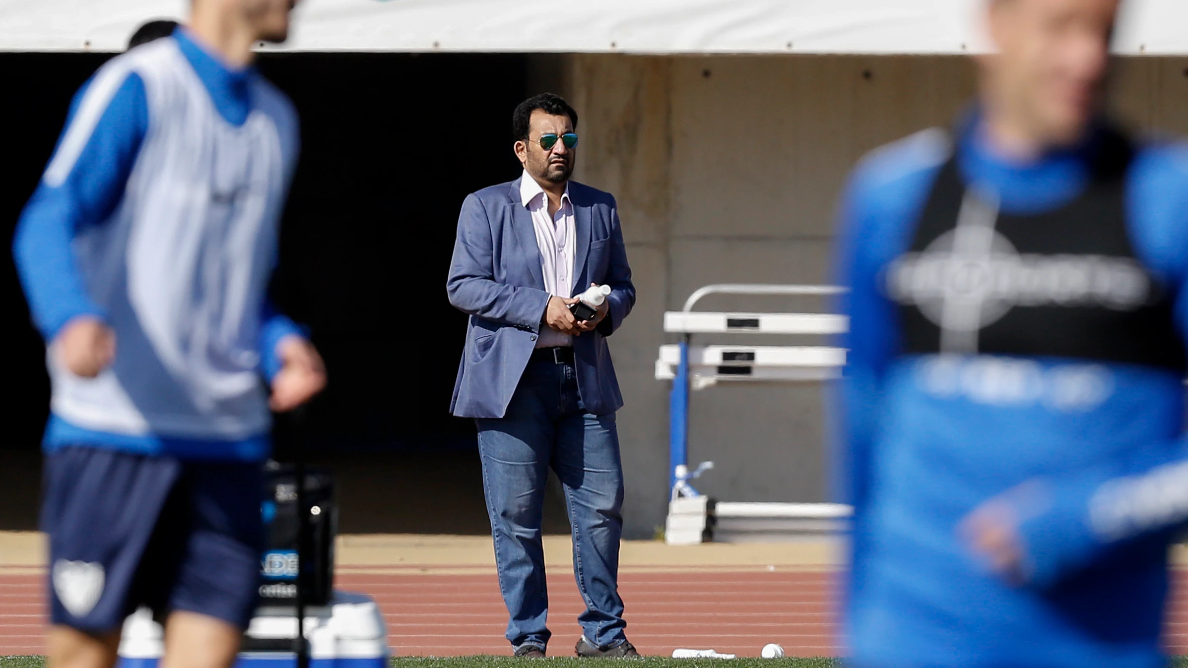
{"type": "Polygon", "coordinates": [[[51,622],[106,634],[144,605],[246,628],[259,587],[261,494],[258,463],[84,446],[46,454],[51,622]]]}

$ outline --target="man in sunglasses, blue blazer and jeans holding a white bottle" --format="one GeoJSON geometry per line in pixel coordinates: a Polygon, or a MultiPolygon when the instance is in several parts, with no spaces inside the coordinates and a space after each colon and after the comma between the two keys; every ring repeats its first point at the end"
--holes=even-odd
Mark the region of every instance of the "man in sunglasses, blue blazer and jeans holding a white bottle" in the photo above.
{"type": "Polygon", "coordinates": [[[507,640],[544,656],[549,602],[541,520],[549,469],[564,486],[574,574],[586,611],[579,656],[638,656],[618,593],[623,406],[606,338],[636,303],[609,193],[569,180],[577,113],[543,94],[512,117],[524,173],[467,196],[447,291],[470,316],[450,409],[479,427],[507,640]],[[611,294],[588,320],[570,311],[593,285],[611,294]]]}

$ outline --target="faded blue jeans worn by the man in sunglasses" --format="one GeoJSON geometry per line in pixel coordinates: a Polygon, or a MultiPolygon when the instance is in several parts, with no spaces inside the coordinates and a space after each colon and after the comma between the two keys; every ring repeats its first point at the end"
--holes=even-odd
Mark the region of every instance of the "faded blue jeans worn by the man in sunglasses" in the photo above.
{"type": "Polygon", "coordinates": [[[552,467],[565,491],[574,577],[586,602],[577,622],[590,644],[623,643],[627,625],[618,591],[623,463],[614,414],[586,412],[571,364],[533,360],[507,413],[475,422],[499,590],[510,613],[507,640],[512,647],[544,649],[549,643],[541,521],[552,467]]]}

